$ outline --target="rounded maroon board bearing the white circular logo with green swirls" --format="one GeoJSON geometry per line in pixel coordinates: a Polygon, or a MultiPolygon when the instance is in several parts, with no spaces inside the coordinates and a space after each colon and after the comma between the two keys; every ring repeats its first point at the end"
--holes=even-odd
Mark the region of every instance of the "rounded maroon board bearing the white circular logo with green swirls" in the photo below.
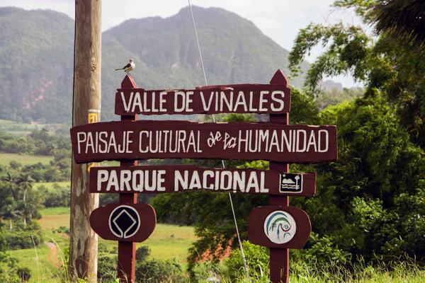
{"type": "Polygon", "coordinates": [[[311,231],[310,219],[297,207],[256,207],[248,218],[249,241],[268,248],[302,248],[311,231]]]}

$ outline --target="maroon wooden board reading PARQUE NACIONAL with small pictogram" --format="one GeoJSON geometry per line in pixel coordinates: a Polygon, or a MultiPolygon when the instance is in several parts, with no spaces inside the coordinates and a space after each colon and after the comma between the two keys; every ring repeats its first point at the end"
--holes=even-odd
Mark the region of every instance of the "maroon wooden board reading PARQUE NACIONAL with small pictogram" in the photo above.
{"type": "Polygon", "coordinates": [[[90,192],[242,192],[312,197],[316,173],[217,169],[196,166],[117,166],[91,168],[90,192]]]}

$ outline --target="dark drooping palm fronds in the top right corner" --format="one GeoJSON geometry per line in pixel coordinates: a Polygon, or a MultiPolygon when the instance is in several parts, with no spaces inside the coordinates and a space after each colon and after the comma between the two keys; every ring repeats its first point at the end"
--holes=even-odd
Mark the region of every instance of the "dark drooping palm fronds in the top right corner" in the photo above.
{"type": "Polygon", "coordinates": [[[376,0],[370,19],[378,33],[402,37],[414,45],[425,45],[424,0],[376,0]]]}

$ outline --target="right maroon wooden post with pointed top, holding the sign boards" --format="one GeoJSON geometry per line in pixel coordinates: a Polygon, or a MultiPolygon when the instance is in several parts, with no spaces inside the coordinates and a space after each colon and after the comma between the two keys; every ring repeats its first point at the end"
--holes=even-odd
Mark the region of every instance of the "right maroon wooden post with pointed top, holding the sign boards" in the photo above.
{"type": "MultiPolygon", "coordinates": [[[[270,84],[288,85],[288,80],[282,71],[276,71],[270,84]]],[[[283,125],[289,124],[289,113],[270,115],[270,122],[283,125]]],[[[276,170],[280,173],[289,172],[289,165],[281,162],[270,162],[270,170],[276,170]]],[[[270,205],[289,206],[289,197],[271,195],[270,205]]],[[[273,283],[289,282],[289,249],[288,248],[270,248],[270,279],[273,283]]]]}

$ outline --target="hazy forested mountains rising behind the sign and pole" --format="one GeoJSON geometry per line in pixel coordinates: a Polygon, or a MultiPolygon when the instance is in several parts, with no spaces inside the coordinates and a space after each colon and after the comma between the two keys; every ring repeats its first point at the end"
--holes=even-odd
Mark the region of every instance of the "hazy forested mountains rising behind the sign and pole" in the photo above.
{"type": "MultiPolygon", "coordinates": [[[[222,8],[193,7],[193,13],[208,83],[266,83],[278,68],[288,73],[288,51],[250,21],[222,8]]],[[[73,42],[74,21],[63,13],[0,8],[0,119],[70,122],[73,42]]],[[[123,79],[113,69],[129,58],[144,88],[204,84],[188,8],[107,30],[102,52],[104,120],[115,118],[113,96],[123,79]]]]}

